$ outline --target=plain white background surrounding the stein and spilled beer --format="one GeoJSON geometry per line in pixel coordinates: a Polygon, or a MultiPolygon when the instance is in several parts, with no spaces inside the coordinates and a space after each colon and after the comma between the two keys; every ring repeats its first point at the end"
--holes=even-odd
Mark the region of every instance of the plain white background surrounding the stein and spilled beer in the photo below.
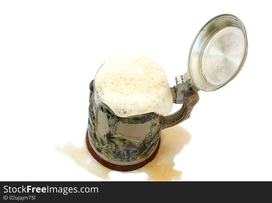
{"type": "Polygon", "coordinates": [[[0,180],[103,180],[54,147],[82,145],[97,69],[116,55],[141,53],[164,68],[173,86],[187,70],[199,29],[230,13],[247,29],[247,60],[227,86],[199,92],[181,124],[191,141],[175,168],[181,181],[271,181],[271,11],[271,0],[1,1],[0,180]]]}

